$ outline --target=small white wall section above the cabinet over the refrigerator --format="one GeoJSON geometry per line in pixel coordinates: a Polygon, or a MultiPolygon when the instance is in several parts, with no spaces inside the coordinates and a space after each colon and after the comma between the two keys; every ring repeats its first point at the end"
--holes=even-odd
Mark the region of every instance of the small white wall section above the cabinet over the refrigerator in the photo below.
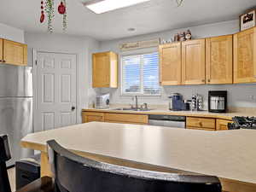
{"type": "Polygon", "coordinates": [[[24,44],[24,31],[13,26],[7,26],[0,23],[0,38],[5,38],[24,44]]]}

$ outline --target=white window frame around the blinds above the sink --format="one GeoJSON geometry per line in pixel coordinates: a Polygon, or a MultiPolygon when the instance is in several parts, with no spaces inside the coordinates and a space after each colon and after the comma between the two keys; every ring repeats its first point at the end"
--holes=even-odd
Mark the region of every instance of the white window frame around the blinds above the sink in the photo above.
{"type": "MultiPolygon", "coordinates": [[[[142,61],[142,67],[141,67],[141,70],[140,70],[140,91],[141,92],[137,92],[137,93],[127,93],[127,92],[124,92],[124,89],[123,89],[123,85],[124,85],[124,63],[123,63],[123,57],[126,57],[126,56],[136,56],[136,55],[149,55],[149,54],[154,54],[154,53],[158,53],[158,56],[159,56],[159,52],[157,50],[151,50],[151,51],[147,51],[147,52],[140,52],[140,53],[132,53],[132,54],[124,54],[124,55],[121,55],[120,56],[120,64],[121,64],[121,67],[120,67],[120,92],[121,92],[121,96],[161,96],[161,87],[160,87],[160,83],[159,83],[159,88],[160,88],[160,91],[158,94],[148,94],[148,93],[143,93],[143,61],[142,61]]],[[[160,58],[159,58],[160,59],[160,58]]],[[[158,63],[158,78],[160,80],[160,66],[159,66],[159,63],[158,63]]]]}

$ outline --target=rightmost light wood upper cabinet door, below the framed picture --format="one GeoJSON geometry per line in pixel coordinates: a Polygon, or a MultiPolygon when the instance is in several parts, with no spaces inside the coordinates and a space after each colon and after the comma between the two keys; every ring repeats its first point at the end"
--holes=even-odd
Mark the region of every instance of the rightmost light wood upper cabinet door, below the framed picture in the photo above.
{"type": "Polygon", "coordinates": [[[234,83],[256,82],[256,27],[234,35],[234,83]]]}

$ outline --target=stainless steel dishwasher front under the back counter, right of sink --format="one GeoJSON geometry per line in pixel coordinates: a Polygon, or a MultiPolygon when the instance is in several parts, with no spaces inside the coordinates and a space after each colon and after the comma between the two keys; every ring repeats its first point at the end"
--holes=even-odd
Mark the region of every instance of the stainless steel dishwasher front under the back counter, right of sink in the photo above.
{"type": "Polygon", "coordinates": [[[148,116],[149,125],[167,126],[173,128],[186,127],[186,117],[176,115],[150,114],[148,116]]]}

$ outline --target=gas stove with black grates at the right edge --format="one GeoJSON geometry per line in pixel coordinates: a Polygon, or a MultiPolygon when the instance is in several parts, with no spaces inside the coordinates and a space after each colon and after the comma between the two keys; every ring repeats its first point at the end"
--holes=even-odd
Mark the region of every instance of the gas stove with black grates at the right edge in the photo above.
{"type": "Polygon", "coordinates": [[[256,130],[256,117],[234,117],[234,123],[229,124],[230,130],[253,129],[256,130]]]}

